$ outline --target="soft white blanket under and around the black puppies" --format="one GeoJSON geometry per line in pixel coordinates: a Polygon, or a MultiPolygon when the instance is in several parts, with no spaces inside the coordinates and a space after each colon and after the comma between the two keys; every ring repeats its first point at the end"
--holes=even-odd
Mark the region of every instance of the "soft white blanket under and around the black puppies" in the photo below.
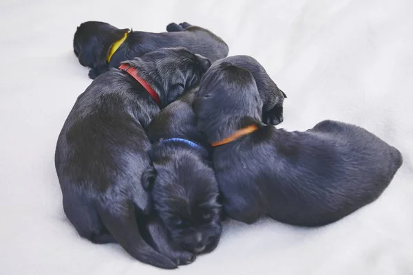
{"type": "Polygon", "coordinates": [[[413,274],[413,1],[20,1],[0,3],[0,274],[413,274]],[[60,2],[60,3],[59,3],[60,2]],[[217,250],[175,271],[81,239],[63,214],[54,148],[91,83],[76,26],[160,32],[188,21],[249,54],[288,98],[290,131],[359,124],[404,164],[374,203],[332,225],[225,223],[217,250]]]}

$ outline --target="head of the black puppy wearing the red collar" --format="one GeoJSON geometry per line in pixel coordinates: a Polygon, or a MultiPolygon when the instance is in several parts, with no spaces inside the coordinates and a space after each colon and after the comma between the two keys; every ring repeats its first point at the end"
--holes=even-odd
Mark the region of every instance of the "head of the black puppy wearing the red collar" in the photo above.
{"type": "Polygon", "coordinates": [[[161,48],[123,63],[138,69],[142,78],[158,91],[163,107],[175,101],[185,90],[198,85],[202,75],[211,67],[208,58],[193,54],[184,47],[161,48]]]}

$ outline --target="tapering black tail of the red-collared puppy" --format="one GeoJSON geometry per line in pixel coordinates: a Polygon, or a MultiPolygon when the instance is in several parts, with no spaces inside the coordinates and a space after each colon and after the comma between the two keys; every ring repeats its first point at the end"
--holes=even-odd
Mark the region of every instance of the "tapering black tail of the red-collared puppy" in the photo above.
{"type": "Polygon", "coordinates": [[[144,241],[140,235],[134,207],[131,203],[127,202],[120,207],[122,214],[114,213],[113,209],[112,211],[102,208],[98,209],[100,218],[120,246],[142,263],[167,270],[176,269],[178,267],[176,263],[156,252],[144,241]]]}

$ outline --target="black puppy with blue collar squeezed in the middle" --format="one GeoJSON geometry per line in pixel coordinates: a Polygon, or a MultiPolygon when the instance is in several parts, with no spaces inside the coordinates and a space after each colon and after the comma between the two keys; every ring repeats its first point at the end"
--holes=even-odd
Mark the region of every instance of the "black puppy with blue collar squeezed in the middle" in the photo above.
{"type": "Polygon", "coordinates": [[[209,151],[195,124],[187,91],[163,109],[147,128],[153,144],[152,165],[142,176],[149,190],[153,214],[160,218],[169,243],[193,254],[211,252],[220,241],[222,226],[209,151]]]}

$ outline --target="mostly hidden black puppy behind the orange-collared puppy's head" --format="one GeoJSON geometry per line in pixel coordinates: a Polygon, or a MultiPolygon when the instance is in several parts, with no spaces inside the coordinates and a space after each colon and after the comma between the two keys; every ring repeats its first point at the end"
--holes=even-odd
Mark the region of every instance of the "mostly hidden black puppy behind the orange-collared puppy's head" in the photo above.
{"type": "Polygon", "coordinates": [[[258,92],[264,103],[262,106],[262,122],[264,124],[277,125],[284,121],[283,102],[287,98],[284,91],[280,90],[274,81],[268,76],[266,70],[258,61],[251,56],[228,56],[213,64],[219,66],[221,63],[231,63],[237,67],[248,69],[253,74],[257,83],[258,92]]]}

